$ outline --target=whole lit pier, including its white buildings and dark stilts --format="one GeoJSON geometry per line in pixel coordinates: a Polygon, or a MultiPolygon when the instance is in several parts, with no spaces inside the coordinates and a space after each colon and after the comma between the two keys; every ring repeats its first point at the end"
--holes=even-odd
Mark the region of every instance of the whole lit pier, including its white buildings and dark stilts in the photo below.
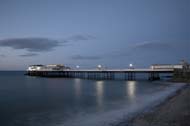
{"type": "Polygon", "coordinates": [[[136,80],[136,74],[146,74],[149,80],[159,80],[160,74],[173,74],[174,69],[183,69],[181,65],[152,65],[150,68],[128,69],[71,69],[64,65],[32,65],[27,69],[29,76],[63,77],[84,79],[116,79],[121,76],[123,80],[136,80]]]}

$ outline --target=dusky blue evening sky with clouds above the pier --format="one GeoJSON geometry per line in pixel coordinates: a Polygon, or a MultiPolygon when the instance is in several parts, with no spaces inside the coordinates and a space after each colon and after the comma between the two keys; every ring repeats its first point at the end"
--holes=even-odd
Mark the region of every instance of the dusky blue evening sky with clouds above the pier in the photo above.
{"type": "Polygon", "coordinates": [[[190,62],[190,0],[0,0],[0,70],[190,62]]]}

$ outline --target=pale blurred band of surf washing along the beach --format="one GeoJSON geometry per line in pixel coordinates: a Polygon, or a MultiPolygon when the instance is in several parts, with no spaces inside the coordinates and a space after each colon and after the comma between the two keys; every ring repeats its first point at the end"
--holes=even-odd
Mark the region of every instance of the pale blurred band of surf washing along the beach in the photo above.
{"type": "Polygon", "coordinates": [[[144,110],[155,107],[169,96],[173,95],[177,90],[181,89],[184,85],[185,84],[169,84],[169,86],[162,90],[138,96],[135,102],[127,105],[124,104],[118,109],[107,112],[91,114],[79,113],[74,118],[58,124],[57,126],[114,126],[144,110]]]}

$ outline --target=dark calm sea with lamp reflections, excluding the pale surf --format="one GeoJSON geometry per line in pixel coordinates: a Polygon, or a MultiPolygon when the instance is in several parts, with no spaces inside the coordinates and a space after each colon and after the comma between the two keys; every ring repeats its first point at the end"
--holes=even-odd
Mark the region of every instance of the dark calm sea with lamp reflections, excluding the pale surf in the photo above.
{"type": "Polygon", "coordinates": [[[0,76],[0,82],[0,126],[53,126],[80,113],[129,106],[139,96],[144,98],[163,86],[147,81],[38,78],[23,73],[0,76]],[[18,123],[13,124],[15,121],[18,123]]]}

